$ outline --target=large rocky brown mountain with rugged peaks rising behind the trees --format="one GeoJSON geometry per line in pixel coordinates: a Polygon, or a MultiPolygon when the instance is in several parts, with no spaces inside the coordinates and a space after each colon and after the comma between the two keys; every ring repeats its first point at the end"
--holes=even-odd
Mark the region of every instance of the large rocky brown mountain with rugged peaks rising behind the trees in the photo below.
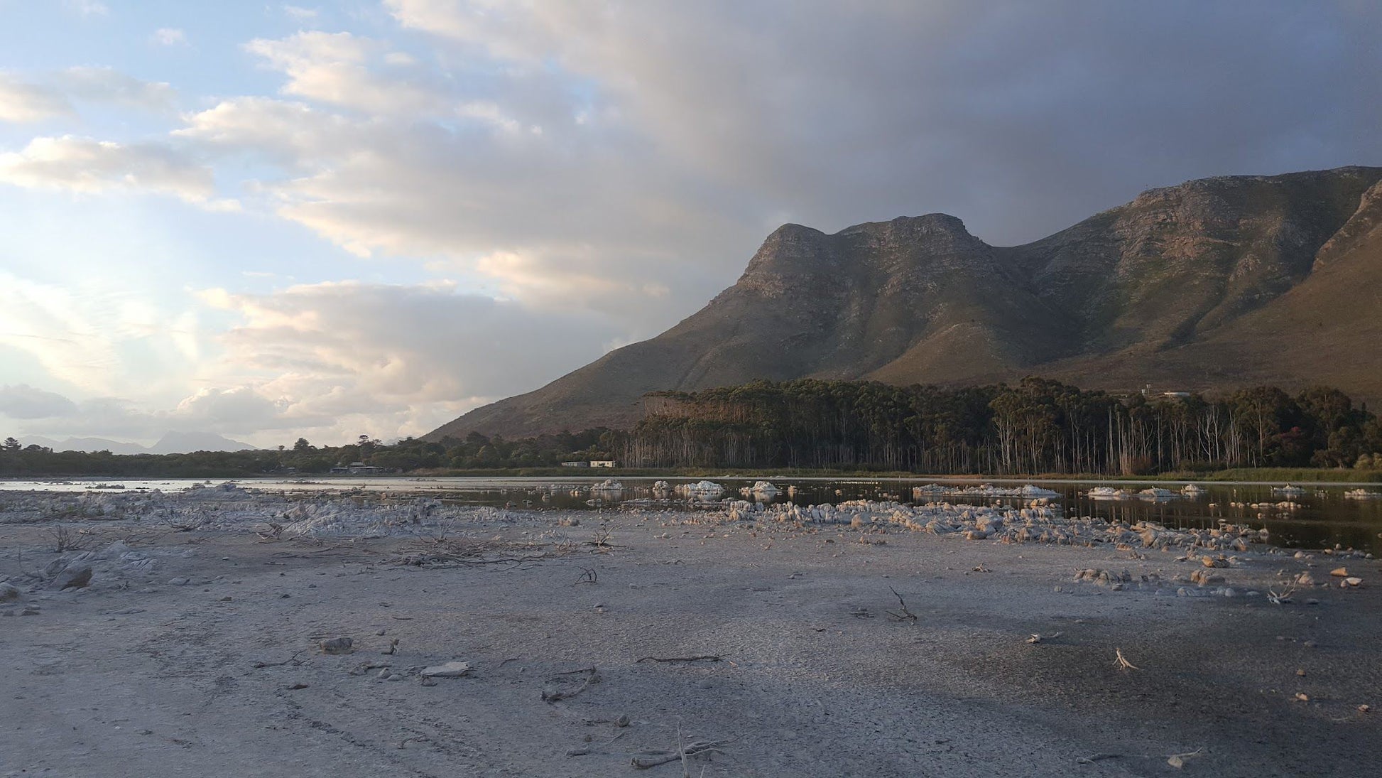
{"type": "Polygon", "coordinates": [[[1382,399],[1379,281],[1382,167],[1189,181],[1023,246],[945,214],[788,224],[668,332],[426,438],[627,427],[647,391],[753,379],[1323,383],[1382,399]]]}

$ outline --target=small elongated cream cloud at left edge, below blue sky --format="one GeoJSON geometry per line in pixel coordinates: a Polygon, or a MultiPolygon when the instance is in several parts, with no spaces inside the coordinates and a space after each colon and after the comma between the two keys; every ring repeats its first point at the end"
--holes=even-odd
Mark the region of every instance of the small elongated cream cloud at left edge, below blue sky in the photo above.
{"type": "Polygon", "coordinates": [[[156,192],[211,209],[235,207],[234,202],[214,199],[209,167],[162,144],[40,137],[19,152],[0,153],[0,182],[83,193],[156,192]]]}

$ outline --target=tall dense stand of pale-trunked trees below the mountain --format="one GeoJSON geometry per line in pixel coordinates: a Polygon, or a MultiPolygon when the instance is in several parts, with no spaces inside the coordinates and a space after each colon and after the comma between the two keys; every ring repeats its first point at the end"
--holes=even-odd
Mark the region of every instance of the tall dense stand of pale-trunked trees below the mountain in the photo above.
{"type": "Polygon", "coordinates": [[[1382,467],[1382,426],[1328,387],[1289,395],[1114,395],[1016,386],[755,381],[652,392],[623,438],[630,467],[799,467],[931,474],[1153,475],[1236,467],[1382,467]],[[1376,466],[1374,466],[1376,462],[1376,466]]]}

